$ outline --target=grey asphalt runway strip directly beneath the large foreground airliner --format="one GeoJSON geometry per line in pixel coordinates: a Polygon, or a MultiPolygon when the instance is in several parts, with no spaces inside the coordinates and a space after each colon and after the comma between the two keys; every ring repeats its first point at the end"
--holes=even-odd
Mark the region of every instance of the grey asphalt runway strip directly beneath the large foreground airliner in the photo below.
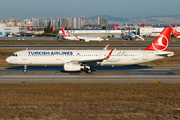
{"type": "Polygon", "coordinates": [[[180,67],[101,66],[66,72],[62,66],[0,67],[0,83],[180,83],[180,67]]]}

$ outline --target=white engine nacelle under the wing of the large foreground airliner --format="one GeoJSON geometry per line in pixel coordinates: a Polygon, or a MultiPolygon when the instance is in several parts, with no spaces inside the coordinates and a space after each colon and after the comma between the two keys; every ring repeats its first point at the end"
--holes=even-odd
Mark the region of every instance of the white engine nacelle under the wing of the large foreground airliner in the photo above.
{"type": "Polygon", "coordinates": [[[84,66],[81,66],[79,63],[70,62],[64,64],[65,71],[80,71],[81,69],[84,69],[84,66]]]}

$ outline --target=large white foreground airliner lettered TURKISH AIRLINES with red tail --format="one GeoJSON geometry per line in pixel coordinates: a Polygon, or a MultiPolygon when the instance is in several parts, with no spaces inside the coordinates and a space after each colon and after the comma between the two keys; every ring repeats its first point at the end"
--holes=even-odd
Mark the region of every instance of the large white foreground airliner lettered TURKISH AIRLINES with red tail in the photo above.
{"type": "Polygon", "coordinates": [[[136,65],[174,55],[167,51],[172,28],[164,28],[161,34],[144,50],[21,50],[6,58],[10,64],[63,65],[64,71],[86,70],[92,73],[92,66],[136,65]]]}

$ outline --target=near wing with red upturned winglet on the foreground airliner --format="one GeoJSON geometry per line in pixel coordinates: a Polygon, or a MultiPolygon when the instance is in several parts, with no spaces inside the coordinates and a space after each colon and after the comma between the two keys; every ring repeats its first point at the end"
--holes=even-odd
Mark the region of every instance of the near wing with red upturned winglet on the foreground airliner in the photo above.
{"type": "Polygon", "coordinates": [[[102,58],[102,59],[90,59],[90,60],[79,60],[79,61],[71,61],[71,62],[78,62],[78,63],[81,63],[81,64],[85,64],[85,65],[96,65],[98,62],[102,62],[103,60],[107,60],[110,58],[112,52],[113,52],[114,49],[112,49],[109,54],[105,57],[105,58],[102,58]]]}

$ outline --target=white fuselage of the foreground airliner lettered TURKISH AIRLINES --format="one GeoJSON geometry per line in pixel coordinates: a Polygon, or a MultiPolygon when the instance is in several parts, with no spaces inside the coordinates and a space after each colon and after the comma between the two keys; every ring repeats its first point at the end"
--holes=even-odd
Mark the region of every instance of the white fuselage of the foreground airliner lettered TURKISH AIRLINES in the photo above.
{"type": "MultiPolygon", "coordinates": [[[[105,58],[109,50],[22,50],[6,59],[18,65],[63,65],[80,60],[105,58]]],[[[114,50],[109,59],[98,65],[133,65],[173,56],[168,51],[114,50]]]]}

